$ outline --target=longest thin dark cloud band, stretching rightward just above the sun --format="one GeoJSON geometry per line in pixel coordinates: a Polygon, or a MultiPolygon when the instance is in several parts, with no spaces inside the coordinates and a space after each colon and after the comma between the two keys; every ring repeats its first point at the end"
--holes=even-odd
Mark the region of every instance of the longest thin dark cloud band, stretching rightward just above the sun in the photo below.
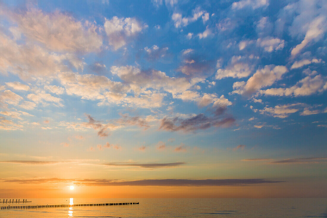
{"type": "Polygon", "coordinates": [[[144,179],[133,181],[115,181],[109,179],[61,179],[61,178],[33,178],[33,179],[5,179],[4,182],[21,184],[40,183],[74,183],[81,186],[243,186],[250,184],[279,183],[266,179],[144,179]]]}

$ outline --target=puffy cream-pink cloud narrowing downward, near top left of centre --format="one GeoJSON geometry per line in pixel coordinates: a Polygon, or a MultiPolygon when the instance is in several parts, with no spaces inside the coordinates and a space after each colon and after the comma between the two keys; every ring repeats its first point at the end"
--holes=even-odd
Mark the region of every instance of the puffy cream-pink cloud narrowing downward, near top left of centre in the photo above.
{"type": "Polygon", "coordinates": [[[137,36],[147,25],[142,25],[136,18],[118,18],[113,16],[112,19],[105,21],[104,29],[108,36],[109,45],[114,50],[127,44],[129,40],[137,36]]]}

